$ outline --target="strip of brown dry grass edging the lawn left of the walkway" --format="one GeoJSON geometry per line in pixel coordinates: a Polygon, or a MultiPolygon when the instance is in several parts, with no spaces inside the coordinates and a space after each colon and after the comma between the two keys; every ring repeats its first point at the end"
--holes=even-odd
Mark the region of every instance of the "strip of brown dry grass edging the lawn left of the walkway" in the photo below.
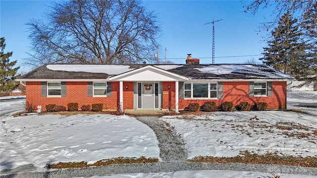
{"type": "Polygon", "coordinates": [[[106,165],[113,165],[113,164],[133,164],[133,163],[157,163],[159,162],[158,158],[112,158],[112,159],[104,159],[97,161],[94,164],[87,164],[87,162],[68,162],[62,163],[59,162],[57,164],[47,164],[45,168],[47,169],[65,169],[65,168],[85,168],[90,166],[106,166],[106,165]]]}

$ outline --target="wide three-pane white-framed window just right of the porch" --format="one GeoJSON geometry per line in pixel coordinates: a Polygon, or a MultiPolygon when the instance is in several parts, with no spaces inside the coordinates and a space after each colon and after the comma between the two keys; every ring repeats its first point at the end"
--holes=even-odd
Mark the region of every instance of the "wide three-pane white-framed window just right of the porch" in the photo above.
{"type": "Polygon", "coordinates": [[[216,98],[217,83],[185,83],[185,98],[216,98]]]}

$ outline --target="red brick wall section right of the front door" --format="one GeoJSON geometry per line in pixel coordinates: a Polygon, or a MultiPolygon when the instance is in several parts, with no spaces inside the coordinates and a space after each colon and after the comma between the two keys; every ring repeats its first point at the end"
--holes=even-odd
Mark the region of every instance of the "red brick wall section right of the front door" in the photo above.
{"type": "MultiPolygon", "coordinates": [[[[174,83],[174,82],[173,82],[174,83]]],[[[175,87],[175,84],[171,83],[170,85],[175,87]]],[[[273,82],[273,91],[272,96],[266,97],[254,97],[249,96],[249,82],[223,82],[223,98],[216,100],[188,100],[188,99],[179,99],[178,108],[184,109],[188,104],[196,102],[201,106],[206,101],[214,101],[217,106],[222,102],[232,101],[234,105],[239,104],[240,102],[247,101],[250,104],[254,105],[256,102],[266,102],[267,109],[286,109],[286,82],[273,82]]],[[[164,87],[164,83],[163,83],[164,87]]],[[[164,88],[163,88],[164,90],[164,88]]],[[[172,102],[175,102],[175,93],[171,92],[171,96],[163,95],[163,103],[165,103],[164,98],[171,98],[172,102]]],[[[163,104],[163,108],[167,109],[166,104],[163,104]]]]}

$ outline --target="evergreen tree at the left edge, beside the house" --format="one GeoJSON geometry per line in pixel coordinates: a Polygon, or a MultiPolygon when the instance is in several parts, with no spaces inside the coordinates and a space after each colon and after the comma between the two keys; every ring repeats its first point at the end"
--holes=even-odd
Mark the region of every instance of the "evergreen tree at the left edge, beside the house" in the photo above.
{"type": "Polygon", "coordinates": [[[10,62],[9,57],[13,52],[4,53],[5,39],[0,38],[0,57],[1,57],[1,71],[0,71],[0,91],[8,91],[14,89],[19,85],[19,82],[14,81],[19,75],[16,74],[20,67],[13,68],[16,61],[10,62]]]}

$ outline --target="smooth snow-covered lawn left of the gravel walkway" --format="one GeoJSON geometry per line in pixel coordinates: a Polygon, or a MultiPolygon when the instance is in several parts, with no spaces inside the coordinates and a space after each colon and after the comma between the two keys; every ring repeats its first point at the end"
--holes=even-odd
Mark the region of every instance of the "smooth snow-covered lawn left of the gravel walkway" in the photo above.
{"type": "Polygon", "coordinates": [[[29,115],[0,123],[0,170],[114,157],[159,158],[155,133],[128,116],[29,115]]]}

